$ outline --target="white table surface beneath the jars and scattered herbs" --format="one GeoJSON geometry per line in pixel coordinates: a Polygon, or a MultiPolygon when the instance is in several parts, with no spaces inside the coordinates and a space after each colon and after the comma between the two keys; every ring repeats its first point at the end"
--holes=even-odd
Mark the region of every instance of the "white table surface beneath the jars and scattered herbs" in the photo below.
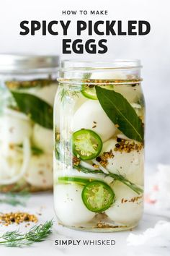
{"type": "MultiPolygon", "coordinates": [[[[149,227],[153,227],[158,220],[170,220],[170,216],[159,216],[155,213],[152,206],[146,205],[145,213],[143,215],[140,225],[133,229],[134,234],[141,234],[149,227]],[[153,214],[154,213],[154,214],[153,214]]],[[[72,229],[66,229],[62,226],[58,226],[55,220],[55,213],[53,210],[53,195],[51,193],[43,193],[32,195],[27,202],[26,207],[12,207],[9,205],[1,204],[0,212],[23,210],[29,213],[42,213],[38,216],[40,223],[44,223],[47,220],[53,218],[53,234],[48,237],[45,242],[32,244],[30,247],[15,248],[15,247],[0,247],[0,255],[145,255],[145,256],[166,256],[170,255],[170,247],[129,247],[126,243],[126,238],[131,231],[115,232],[115,233],[91,233],[83,231],[75,231],[72,229]],[[115,245],[111,246],[56,246],[54,244],[55,239],[115,239],[115,245]]],[[[7,230],[20,229],[25,231],[30,229],[28,226],[12,224],[8,227],[0,226],[0,234],[7,230]]]]}

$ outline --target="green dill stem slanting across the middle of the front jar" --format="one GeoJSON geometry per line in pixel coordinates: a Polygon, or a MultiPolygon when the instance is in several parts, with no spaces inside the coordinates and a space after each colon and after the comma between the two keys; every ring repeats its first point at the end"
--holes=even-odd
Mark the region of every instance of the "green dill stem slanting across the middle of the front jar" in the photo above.
{"type": "Polygon", "coordinates": [[[125,176],[122,176],[122,174],[112,174],[110,171],[108,171],[108,174],[105,174],[102,170],[91,170],[90,168],[86,168],[84,166],[78,165],[78,166],[73,166],[73,168],[76,168],[78,171],[84,172],[84,174],[102,174],[104,176],[110,176],[113,179],[122,182],[126,186],[130,187],[130,189],[133,189],[138,195],[140,193],[143,193],[143,189],[135,185],[133,182],[130,182],[128,179],[125,178],[125,176]]]}

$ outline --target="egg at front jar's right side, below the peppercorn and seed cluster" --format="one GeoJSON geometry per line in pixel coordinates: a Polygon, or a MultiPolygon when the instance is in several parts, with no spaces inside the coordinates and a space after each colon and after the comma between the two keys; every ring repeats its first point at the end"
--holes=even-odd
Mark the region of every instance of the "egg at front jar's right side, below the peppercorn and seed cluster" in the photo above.
{"type": "MultiPolygon", "coordinates": [[[[136,142],[138,143],[138,142],[136,142]]],[[[113,158],[108,159],[107,170],[113,174],[120,173],[125,176],[130,182],[143,185],[143,168],[144,157],[142,150],[133,150],[129,153],[114,151],[117,140],[110,139],[104,142],[102,152],[109,152],[112,150],[113,158]]]]}

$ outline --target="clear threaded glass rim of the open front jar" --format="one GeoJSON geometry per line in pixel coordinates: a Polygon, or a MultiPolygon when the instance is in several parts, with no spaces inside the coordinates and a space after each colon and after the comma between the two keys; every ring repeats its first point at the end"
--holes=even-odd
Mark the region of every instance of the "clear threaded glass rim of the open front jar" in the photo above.
{"type": "Polygon", "coordinates": [[[140,78],[140,60],[115,59],[107,61],[61,60],[58,82],[68,84],[102,85],[136,83],[140,78]]]}

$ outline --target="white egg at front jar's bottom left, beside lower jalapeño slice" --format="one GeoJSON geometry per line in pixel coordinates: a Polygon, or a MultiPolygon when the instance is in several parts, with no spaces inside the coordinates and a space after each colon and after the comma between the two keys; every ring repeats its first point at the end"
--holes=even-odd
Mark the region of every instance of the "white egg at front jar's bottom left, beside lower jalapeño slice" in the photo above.
{"type": "Polygon", "coordinates": [[[95,213],[81,199],[83,187],[76,184],[57,184],[54,188],[55,213],[61,223],[74,226],[91,221],[95,213]]]}

